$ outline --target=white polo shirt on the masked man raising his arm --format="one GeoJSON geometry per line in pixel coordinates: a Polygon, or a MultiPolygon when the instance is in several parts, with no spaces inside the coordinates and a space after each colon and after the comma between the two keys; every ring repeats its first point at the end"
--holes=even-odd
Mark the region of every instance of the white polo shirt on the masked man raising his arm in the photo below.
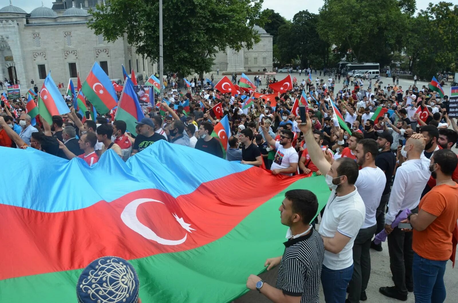
{"type": "Polygon", "coordinates": [[[337,271],[353,264],[353,242],[363,226],[364,219],[365,206],[356,186],[354,191],[340,197],[337,196],[335,190],[332,191],[327,200],[318,233],[323,237],[334,238],[335,233],[339,232],[349,237],[350,241],[338,254],[325,250],[324,266],[337,271]]]}

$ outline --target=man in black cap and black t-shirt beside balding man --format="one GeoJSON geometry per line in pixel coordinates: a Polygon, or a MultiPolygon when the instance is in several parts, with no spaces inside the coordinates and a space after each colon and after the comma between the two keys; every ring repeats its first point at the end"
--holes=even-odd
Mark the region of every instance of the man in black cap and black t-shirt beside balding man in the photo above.
{"type": "MultiPolygon", "coordinates": [[[[385,130],[382,133],[377,133],[378,147],[382,149],[375,158],[375,165],[382,169],[387,178],[385,183],[385,189],[383,189],[382,198],[376,211],[377,229],[375,234],[380,233],[385,228],[385,209],[387,207],[388,200],[390,200],[391,194],[391,178],[393,177],[393,170],[396,165],[396,156],[391,151],[391,145],[393,144],[393,136],[389,131],[385,130]]],[[[377,186],[377,184],[374,184],[377,186]]],[[[375,244],[371,242],[371,248],[382,251],[382,243],[375,244]]]]}

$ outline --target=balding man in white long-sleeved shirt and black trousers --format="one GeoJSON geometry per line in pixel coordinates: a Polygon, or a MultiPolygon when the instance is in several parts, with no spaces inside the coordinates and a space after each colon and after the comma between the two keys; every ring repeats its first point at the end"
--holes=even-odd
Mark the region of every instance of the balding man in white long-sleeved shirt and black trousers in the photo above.
{"type": "Polygon", "coordinates": [[[403,301],[407,300],[408,291],[413,291],[412,233],[393,228],[392,223],[396,216],[405,209],[414,213],[418,211],[420,195],[431,176],[429,159],[421,157],[424,149],[424,138],[411,137],[401,147],[401,155],[407,158],[407,161],[396,170],[385,218],[385,232],[388,234],[388,252],[394,286],[380,287],[379,291],[387,297],[403,301]]]}

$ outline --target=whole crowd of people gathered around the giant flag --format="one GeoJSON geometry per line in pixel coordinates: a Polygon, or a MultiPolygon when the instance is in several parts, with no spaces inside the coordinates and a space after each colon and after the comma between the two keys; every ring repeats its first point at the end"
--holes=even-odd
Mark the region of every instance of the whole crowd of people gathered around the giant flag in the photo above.
{"type": "MultiPolygon", "coordinates": [[[[25,113],[25,100],[10,100],[14,110],[5,104],[1,108],[0,146],[35,148],[94,165],[109,149],[126,161],[166,140],[273,174],[324,175],[332,191],[320,221],[312,191],[285,194],[279,208],[281,222],[289,227],[285,251],[265,265],[279,266],[276,287],[254,275],[247,287],[273,302],[319,302],[321,281],[326,302],[365,301],[370,249],[382,251],[376,238],[384,234],[394,286],[381,286],[380,292],[401,301],[414,292],[416,302],[444,302],[445,266],[454,260],[453,239],[458,238],[458,158],[451,150],[458,126],[447,115],[448,97],[426,87],[404,92],[396,84],[376,82],[365,88],[363,79],[348,79],[334,92],[329,79],[295,83],[292,90],[278,92],[275,101],[254,98],[254,92],[170,87],[160,105],[152,105],[136,122],[135,133],[113,112],[83,117],[69,99],[69,113],[53,116],[52,123],[39,116],[33,121],[25,113]],[[292,112],[303,90],[305,121],[292,112]],[[253,104],[244,108],[247,98],[253,104]],[[213,132],[222,118],[212,114],[218,104],[229,121],[227,148],[213,132]],[[419,116],[419,108],[426,117],[419,116]],[[381,109],[393,114],[371,119],[381,109]],[[406,209],[409,216],[403,217],[406,209]],[[411,227],[400,228],[399,222],[411,227]]],[[[260,92],[277,93],[270,88],[260,92]]]]}

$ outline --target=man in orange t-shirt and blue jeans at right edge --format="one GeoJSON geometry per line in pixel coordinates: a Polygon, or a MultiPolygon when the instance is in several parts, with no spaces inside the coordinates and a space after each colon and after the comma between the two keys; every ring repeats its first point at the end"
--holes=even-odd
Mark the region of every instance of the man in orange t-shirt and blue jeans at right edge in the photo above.
{"type": "MultiPolygon", "coordinates": [[[[413,227],[413,280],[415,302],[444,302],[444,273],[453,257],[453,233],[458,220],[458,184],[452,179],[458,159],[449,149],[435,151],[430,171],[436,186],[420,200],[417,214],[409,216],[413,227]]],[[[455,231],[456,233],[456,231],[455,231]]]]}

